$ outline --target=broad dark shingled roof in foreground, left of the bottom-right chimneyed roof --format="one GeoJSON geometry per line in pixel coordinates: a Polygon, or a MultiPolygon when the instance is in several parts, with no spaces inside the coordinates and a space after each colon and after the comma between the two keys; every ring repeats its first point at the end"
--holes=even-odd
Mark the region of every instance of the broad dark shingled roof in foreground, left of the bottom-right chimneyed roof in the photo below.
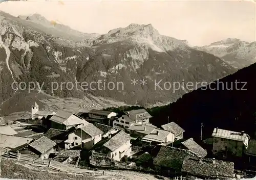
{"type": "Polygon", "coordinates": [[[188,158],[189,155],[194,156],[193,152],[189,150],[163,145],[157,153],[153,164],[156,166],[172,168],[180,172],[184,159],[188,158]]]}

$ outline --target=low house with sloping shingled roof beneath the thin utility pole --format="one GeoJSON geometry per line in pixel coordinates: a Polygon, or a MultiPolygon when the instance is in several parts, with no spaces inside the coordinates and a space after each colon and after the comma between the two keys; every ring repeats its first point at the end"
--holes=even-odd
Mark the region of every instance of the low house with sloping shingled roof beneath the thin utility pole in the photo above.
{"type": "MultiPolygon", "coordinates": [[[[170,143],[169,146],[171,146],[170,143]]],[[[201,158],[207,156],[207,151],[204,148],[202,148],[198,143],[196,143],[193,138],[175,141],[175,143],[172,144],[172,146],[190,150],[191,152],[195,153],[196,156],[201,158]]]]}

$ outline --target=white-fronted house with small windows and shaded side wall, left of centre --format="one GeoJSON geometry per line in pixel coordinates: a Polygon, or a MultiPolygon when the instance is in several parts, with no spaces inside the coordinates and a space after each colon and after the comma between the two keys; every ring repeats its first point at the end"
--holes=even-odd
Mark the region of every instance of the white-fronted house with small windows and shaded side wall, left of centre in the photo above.
{"type": "Polygon", "coordinates": [[[103,132],[95,125],[89,123],[85,126],[80,126],[76,131],[68,135],[64,141],[65,149],[70,149],[76,146],[91,149],[96,143],[101,141],[103,132]]]}

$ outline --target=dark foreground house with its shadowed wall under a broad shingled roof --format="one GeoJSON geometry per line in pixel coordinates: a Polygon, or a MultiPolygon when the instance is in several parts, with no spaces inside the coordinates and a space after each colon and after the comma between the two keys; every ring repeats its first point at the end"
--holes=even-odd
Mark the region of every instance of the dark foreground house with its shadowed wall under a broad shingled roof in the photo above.
{"type": "Polygon", "coordinates": [[[194,156],[194,153],[170,146],[158,146],[160,150],[154,158],[153,164],[161,174],[180,175],[184,159],[194,156]]]}

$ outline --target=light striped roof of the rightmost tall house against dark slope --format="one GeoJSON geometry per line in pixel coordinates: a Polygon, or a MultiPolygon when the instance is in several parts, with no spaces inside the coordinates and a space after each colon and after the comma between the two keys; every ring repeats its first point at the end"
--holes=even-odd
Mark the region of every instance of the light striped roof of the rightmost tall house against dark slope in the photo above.
{"type": "Polygon", "coordinates": [[[235,140],[235,141],[244,142],[248,135],[245,133],[242,135],[241,132],[234,132],[234,131],[222,130],[220,128],[214,128],[214,132],[212,133],[211,136],[217,137],[217,138],[231,139],[231,140],[235,140]],[[218,131],[217,131],[217,129],[218,129],[218,131]]]}

